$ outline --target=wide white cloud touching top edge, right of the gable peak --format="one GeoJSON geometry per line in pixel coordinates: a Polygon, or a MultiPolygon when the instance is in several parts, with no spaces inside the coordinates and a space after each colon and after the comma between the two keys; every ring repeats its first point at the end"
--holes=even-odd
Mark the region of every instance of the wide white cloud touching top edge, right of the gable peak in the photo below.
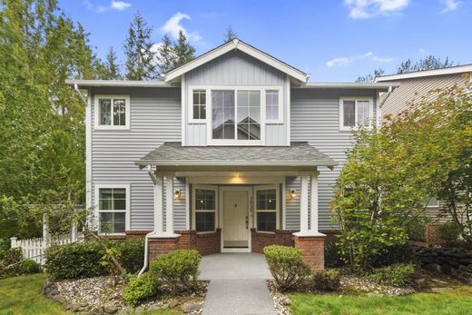
{"type": "Polygon", "coordinates": [[[349,7],[349,16],[359,19],[398,13],[406,8],[409,2],[410,0],[344,0],[344,4],[349,7]]]}

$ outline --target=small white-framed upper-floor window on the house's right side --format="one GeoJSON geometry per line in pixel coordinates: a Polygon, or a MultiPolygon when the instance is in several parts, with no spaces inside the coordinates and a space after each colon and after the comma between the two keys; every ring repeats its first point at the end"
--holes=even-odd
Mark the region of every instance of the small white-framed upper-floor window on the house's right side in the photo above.
{"type": "Polygon", "coordinates": [[[339,130],[351,130],[360,125],[369,127],[373,118],[373,99],[341,97],[339,99],[339,130]]]}

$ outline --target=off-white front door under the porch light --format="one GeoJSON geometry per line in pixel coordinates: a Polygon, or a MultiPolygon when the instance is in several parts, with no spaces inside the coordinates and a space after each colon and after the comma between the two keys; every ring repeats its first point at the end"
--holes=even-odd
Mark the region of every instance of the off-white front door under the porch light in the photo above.
{"type": "Polygon", "coordinates": [[[247,188],[222,191],[222,241],[223,250],[249,250],[250,193],[247,188]]]}

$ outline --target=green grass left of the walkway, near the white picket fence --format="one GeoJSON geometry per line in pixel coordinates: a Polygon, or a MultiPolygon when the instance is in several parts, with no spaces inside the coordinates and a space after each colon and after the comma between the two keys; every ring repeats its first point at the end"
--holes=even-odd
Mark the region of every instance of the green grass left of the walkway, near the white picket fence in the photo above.
{"type": "MultiPolygon", "coordinates": [[[[0,314],[74,314],[54,300],[44,297],[41,293],[44,274],[20,276],[0,280],[0,314]]],[[[153,311],[145,314],[176,315],[173,311],[153,311]]]]}

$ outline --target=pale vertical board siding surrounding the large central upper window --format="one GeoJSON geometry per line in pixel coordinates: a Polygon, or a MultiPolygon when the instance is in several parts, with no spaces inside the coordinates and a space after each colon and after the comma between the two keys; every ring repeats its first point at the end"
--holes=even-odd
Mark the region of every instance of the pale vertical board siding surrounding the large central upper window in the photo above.
{"type": "MultiPolygon", "coordinates": [[[[211,122],[211,112],[207,110],[207,123],[189,123],[189,104],[192,100],[192,86],[270,86],[286,91],[286,74],[264,64],[249,54],[231,51],[207,64],[193,69],[184,76],[184,122],[185,145],[204,146],[207,142],[207,123],[211,122]]],[[[208,101],[207,101],[208,102],[208,101]]],[[[287,108],[285,97],[281,103],[287,108]]],[[[283,123],[266,123],[266,145],[287,145],[287,113],[283,111],[283,123]]]]}

